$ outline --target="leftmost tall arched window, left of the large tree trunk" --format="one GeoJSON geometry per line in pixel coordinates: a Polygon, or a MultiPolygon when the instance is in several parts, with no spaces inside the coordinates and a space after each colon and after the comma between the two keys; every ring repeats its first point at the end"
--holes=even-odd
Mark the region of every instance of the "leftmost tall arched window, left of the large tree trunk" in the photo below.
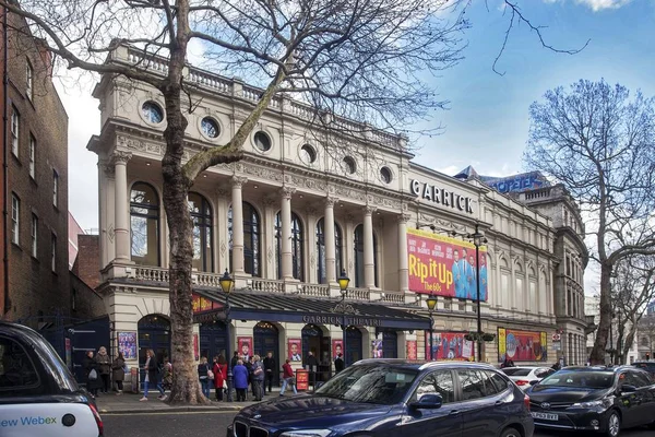
{"type": "Polygon", "coordinates": [[[132,186],[130,236],[132,261],[141,265],[159,265],[159,198],[148,184],[132,186]]]}

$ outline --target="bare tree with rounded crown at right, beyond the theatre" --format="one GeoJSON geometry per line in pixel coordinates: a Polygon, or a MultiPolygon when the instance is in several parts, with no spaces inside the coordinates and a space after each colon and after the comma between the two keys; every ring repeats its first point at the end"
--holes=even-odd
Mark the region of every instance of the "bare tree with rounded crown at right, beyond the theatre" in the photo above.
{"type": "Polygon", "coordinates": [[[633,256],[655,253],[655,102],[605,81],[548,91],[529,108],[527,166],[564,184],[593,235],[600,265],[600,321],[591,361],[604,362],[611,277],[633,256]]]}

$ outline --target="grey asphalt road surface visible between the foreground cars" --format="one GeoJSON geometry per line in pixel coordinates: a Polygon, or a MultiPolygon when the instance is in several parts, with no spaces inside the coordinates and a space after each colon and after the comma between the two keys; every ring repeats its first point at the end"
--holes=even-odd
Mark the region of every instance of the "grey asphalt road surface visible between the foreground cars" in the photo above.
{"type": "MultiPolygon", "coordinates": [[[[225,436],[234,412],[103,415],[105,437],[225,436]]],[[[581,437],[581,434],[537,433],[534,437],[581,437]]],[[[593,434],[591,435],[593,436],[593,434]]],[[[621,437],[653,437],[648,429],[626,430],[621,437]]]]}

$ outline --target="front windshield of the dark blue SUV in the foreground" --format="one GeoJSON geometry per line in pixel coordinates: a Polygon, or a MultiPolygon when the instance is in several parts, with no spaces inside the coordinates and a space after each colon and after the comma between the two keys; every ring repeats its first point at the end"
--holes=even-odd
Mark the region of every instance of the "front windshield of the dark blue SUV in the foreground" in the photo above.
{"type": "Polygon", "coordinates": [[[353,402],[394,404],[403,400],[417,370],[390,366],[352,366],[317,390],[317,394],[353,402]]]}

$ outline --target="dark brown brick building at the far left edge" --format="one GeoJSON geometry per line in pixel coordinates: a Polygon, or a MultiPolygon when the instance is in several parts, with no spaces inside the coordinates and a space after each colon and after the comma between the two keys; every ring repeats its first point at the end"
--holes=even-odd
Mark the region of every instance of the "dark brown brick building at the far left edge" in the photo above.
{"type": "MultiPolygon", "coordinates": [[[[0,11],[4,14],[4,11],[0,11]]],[[[51,59],[20,16],[2,36],[4,224],[0,316],[37,326],[69,316],[68,116],[51,59]]]]}

